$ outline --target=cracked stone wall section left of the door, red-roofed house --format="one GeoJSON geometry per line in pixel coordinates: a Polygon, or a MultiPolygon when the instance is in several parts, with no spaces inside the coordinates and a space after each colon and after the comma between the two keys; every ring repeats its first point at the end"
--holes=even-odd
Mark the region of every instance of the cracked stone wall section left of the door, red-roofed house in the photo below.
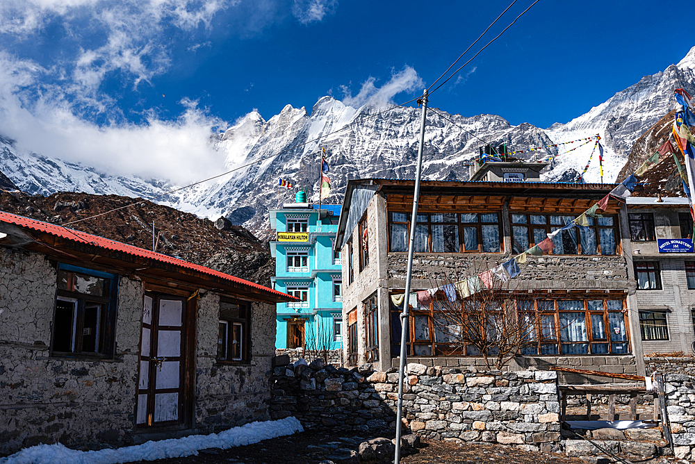
{"type": "Polygon", "coordinates": [[[142,283],[120,281],[115,359],[89,361],[49,356],[56,282],[44,256],[0,249],[0,454],[133,429],[142,283]]]}

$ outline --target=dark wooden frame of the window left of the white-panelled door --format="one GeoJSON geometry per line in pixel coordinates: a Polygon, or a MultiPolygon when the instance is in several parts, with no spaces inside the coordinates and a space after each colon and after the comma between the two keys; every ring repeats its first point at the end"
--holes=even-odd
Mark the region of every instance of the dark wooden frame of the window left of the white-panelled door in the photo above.
{"type": "MultiPolygon", "coordinates": [[[[60,288],[58,282],[56,288],[56,299],[54,302],[54,315],[51,322],[51,356],[61,358],[97,358],[111,359],[114,355],[115,344],[115,324],[116,324],[116,306],[119,279],[115,274],[99,272],[76,267],[71,265],[58,264],[57,279],[65,276],[67,279],[67,288],[60,288]],[[75,274],[87,277],[96,277],[104,279],[104,290],[101,296],[89,295],[83,292],[74,290],[75,274]],[[73,290],[70,290],[70,289],[73,290]],[[61,351],[56,349],[58,345],[58,337],[65,336],[65,328],[58,323],[58,314],[61,310],[59,301],[73,304],[72,319],[70,321],[70,338],[67,340],[70,345],[70,351],[61,351]],[[83,351],[85,333],[85,306],[88,304],[98,304],[99,316],[97,326],[95,327],[95,351],[83,351]]],[[[67,309],[67,308],[66,308],[67,309]]],[[[65,342],[66,340],[61,340],[65,342]]]]}

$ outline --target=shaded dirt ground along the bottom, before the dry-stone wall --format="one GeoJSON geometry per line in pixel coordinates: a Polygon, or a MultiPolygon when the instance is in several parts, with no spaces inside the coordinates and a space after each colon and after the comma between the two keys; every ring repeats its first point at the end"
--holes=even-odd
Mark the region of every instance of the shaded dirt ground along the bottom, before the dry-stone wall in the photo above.
{"type": "MultiPolygon", "coordinates": [[[[198,456],[150,461],[157,464],[318,464],[330,459],[336,448],[357,450],[359,443],[374,436],[340,436],[302,432],[292,436],[263,440],[255,445],[231,449],[199,451],[198,456]]],[[[393,456],[388,461],[393,462],[393,456]]],[[[403,464],[586,464],[578,458],[562,454],[541,454],[521,451],[505,445],[423,442],[411,454],[402,456],[403,464]]]]}

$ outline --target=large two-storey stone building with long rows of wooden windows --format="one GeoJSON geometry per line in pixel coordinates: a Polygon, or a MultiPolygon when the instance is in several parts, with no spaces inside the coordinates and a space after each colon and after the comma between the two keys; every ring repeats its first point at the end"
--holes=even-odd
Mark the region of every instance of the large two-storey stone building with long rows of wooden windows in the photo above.
{"type": "MultiPolygon", "coordinates": [[[[412,291],[475,276],[546,239],[547,234],[605,197],[614,185],[423,181],[416,229],[412,291]]],[[[402,295],[414,181],[349,181],[336,249],[343,259],[345,359],[398,366],[400,320],[391,297],[402,295]]],[[[525,285],[521,305],[541,315],[532,342],[509,363],[564,365],[640,374],[639,342],[625,204],[610,199],[589,226],[562,231],[551,254],[528,256],[514,281],[525,285]],[[530,305],[530,306],[526,306],[530,305]]],[[[411,299],[409,362],[434,366],[481,365],[471,346],[453,347],[436,310],[411,299]]],[[[506,304],[506,303],[505,303],[506,304]]],[[[517,306],[522,308],[522,306],[517,306]]]]}

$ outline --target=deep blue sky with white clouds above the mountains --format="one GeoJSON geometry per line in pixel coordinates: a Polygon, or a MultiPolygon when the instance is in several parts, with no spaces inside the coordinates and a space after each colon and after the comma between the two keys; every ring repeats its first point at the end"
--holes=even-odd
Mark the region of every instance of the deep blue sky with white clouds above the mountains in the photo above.
{"type": "MultiPolygon", "coordinates": [[[[196,179],[222,167],[208,134],[251,110],[416,97],[510,1],[3,0],[0,135],[122,174],[196,179]]],[[[459,64],[531,3],[516,1],[459,64]]],[[[653,1],[540,0],[430,104],[568,122],[678,63],[695,33],[676,24],[653,1]]]]}

